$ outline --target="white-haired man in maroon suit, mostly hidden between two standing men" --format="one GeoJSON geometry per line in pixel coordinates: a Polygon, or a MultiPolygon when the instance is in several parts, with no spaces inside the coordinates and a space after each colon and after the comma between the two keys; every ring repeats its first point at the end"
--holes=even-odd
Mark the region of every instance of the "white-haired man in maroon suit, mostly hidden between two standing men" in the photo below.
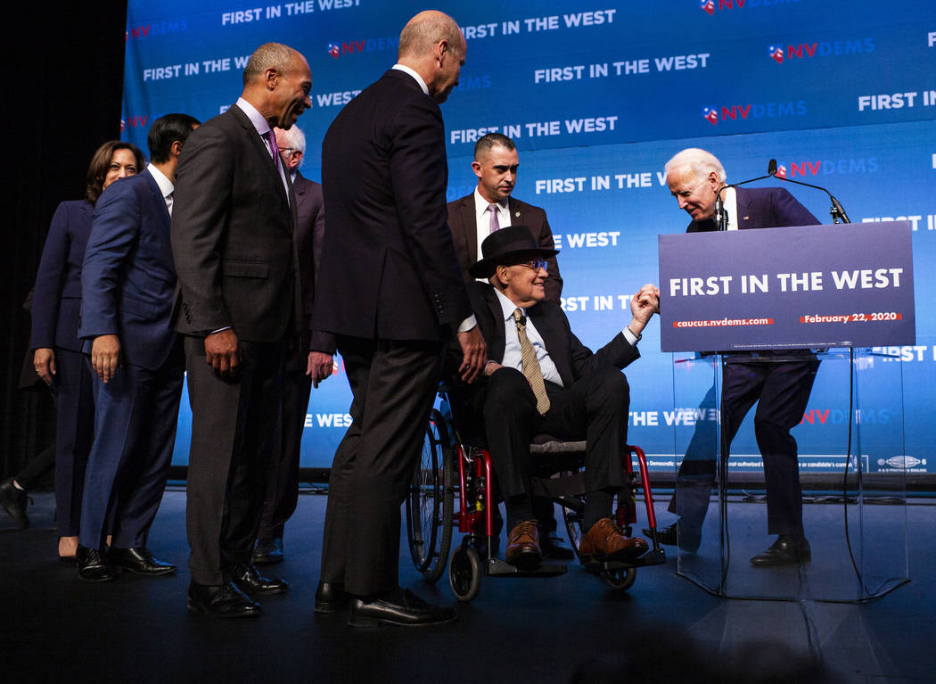
{"type": "Polygon", "coordinates": [[[292,179],[296,195],[296,253],[299,257],[302,283],[302,326],[300,338],[286,352],[283,373],[283,414],[279,439],[273,446],[270,469],[267,472],[267,496],[263,501],[260,528],[256,532],[253,561],[256,565],[271,565],[283,560],[283,529],[296,510],[299,499],[299,461],[305,412],[309,407],[312,386],[329,378],[334,361],[334,337],[327,333],[312,333],[312,301],[315,275],[322,256],[325,237],[325,211],[322,208],[322,186],[302,175],[305,159],[305,134],[299,126],[289,130],[274,128],[276,144],[283,164],[292,179]],[[309,351],[310,337],[316,336],[316,347],[327,352],[309,351]],[[323,335],[319,338],[318,335],[323,335]]]}

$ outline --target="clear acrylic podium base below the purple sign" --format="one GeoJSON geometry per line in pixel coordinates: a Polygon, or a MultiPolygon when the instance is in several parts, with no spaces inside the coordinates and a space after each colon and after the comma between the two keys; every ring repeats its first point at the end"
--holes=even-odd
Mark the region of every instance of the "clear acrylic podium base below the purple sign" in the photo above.
{"type": "Polygon", "coordinates": [[[733,598],[843,602],[907,580],[902,364],[674,354],[673,397],[715,419],[674,428],[680,575],[733,598]]]}

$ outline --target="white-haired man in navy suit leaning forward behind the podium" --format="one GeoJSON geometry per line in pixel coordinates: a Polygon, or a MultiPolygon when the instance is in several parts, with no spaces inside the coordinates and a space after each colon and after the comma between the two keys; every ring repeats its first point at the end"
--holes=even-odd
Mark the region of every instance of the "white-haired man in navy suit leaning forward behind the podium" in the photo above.
{"type": "MultiPolygon", "coordinates": [[[[782,187],[724,187],[718,158],[705,150],[682,150],[666,162],[666,185],[680,209],[692,216],[686,232],[718,230],[715,200],[722,192],[727,230],[811,226],[819,221],[782,187]],[[724,188],[724,189],[723,189],[724,188]]],[[[751,558],[754,566],[770,567],[810,560],[803,531],[797,440],[790,430],[802,421],[819,362],[809,349],[756,351],[724,355],[722,383],[722,458],[744,416],[757,403],[754,435],[764,459],[768,534],[778,535],[767,551],[751,558]]],[[[700,424],[696,427],[705,431],[700,424]]],[[[710,432],[710,430],[709,430],[710,432]]],[[[694,552],[709,508],[715,477],[714,444],[694,439],[680,465],[670,511],[680,517],[661,530],[660,541],[679,543],[694,552]]]]}

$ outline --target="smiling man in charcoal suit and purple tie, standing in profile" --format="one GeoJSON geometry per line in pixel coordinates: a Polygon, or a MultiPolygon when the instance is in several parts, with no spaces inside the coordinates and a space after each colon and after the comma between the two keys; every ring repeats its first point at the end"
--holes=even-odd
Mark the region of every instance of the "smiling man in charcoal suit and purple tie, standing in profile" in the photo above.
{"type": "Polygon", "coordinates": [[[243,93],[197,129],[179,163],[172,252],[185,335],[192,444],[186,527],[189,609],[256,616],[247,594],[282,593],[251,552],[266,491],[285,342],[298,333],[296,198],[272,127],[312,106],[305,58],[266,43],[243,71],[243,93]]]}

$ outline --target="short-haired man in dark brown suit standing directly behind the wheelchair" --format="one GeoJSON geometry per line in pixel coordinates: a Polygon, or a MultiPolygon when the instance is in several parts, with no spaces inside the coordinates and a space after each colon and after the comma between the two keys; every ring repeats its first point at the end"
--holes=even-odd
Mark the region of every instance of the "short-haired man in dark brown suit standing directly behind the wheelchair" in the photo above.
{"type": "MultiPolygon", "coordinates": [[[[481,259],[481,244],[495,230],[510,225],[526,226],[533,231],[536,244],[546,250],[555,247],[546,212],[513,197],[519,171],[519,154],[514,141],[501,133],[488,133],[475,142],[475,160],[471,164],[477,187],[470,195],[448,202],[448,226],[452,229],[455,252],[466,281],[468,271],[481,259]]],[[[563,276],[555,256],[547,259],[546,300],[560,304],[563,276]]],[[[534,497],[534,513],[539,520],[540,545],[547,558],[567,560],[575,557],[572,548],[556,532],[556,514],[552,500],[534,497]]],[[[498,528],[500,516],[497,519],[498,528]]]]}

